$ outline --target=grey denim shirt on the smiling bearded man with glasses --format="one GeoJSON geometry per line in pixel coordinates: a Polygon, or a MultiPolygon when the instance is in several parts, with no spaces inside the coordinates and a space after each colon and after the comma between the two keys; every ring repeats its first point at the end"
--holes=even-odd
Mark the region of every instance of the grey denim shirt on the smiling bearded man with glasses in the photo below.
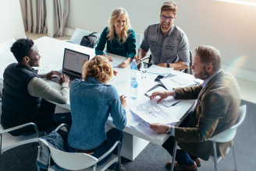
{"type": "Polygon", "coordinates": [[[146,52],[150,49],[153,65],[183,61],[190,66],[190,45],[186,33],[172,24],[172,29],[163,36],[160,25],[155,23],[146,28],[140,48],[146,52]]]}

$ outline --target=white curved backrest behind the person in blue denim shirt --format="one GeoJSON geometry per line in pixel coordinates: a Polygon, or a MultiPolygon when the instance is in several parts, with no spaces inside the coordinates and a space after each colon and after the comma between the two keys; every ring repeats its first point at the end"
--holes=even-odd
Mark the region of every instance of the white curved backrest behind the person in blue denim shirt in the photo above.
{"type": "Polygon", "coordinates": [[[48,141],[39,138],[39,141],[47,145],[51,151],[52,159],[54,162],[61,166],[64,169],[69,170],[80,170],[87,167],[93,166],[98,162],[98,159],[94,156],[87,155],[85,153],[76,153],[76,152],[62,152],[56,148],[52,148],[51,145],[48,145],[48,141]]]}

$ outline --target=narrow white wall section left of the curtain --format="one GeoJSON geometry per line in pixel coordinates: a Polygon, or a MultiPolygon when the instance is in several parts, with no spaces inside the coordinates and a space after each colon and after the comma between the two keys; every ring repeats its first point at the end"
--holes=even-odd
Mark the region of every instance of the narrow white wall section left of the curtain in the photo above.
{"type": "Polygon", "coordinates": [[[0,0],[0,44],[25,35],[19,0],[0,0]]]}

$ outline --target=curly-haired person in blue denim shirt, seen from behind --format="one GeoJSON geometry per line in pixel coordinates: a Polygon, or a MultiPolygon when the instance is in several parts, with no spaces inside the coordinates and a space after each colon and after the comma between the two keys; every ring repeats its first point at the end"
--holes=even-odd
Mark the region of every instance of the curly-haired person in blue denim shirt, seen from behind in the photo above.
{"type": "MultiPolygon", "coordinates": [[[[83,152],[99,158],[116,141],[120,141],[122,147],[122,130],[126,126],[126,99],[124,96],[119,96],[114,86],[105,84],[112,75],[113,69],[108,59],[97,55],[84,64],[84,81],[75,79],[72,82],[70,86],[72,126],[68,137],[68,152],[83,152]],[[105,125],[109,113],[116,128],[106,133],[105,125]]],[[[113,154],[117,155],[117,149],[113,154]]],[[[108,158],[101,162],[105,162],[106,159],[108,158]]],[[[115,168],[116,163],[108,169],[115,168]]]]}

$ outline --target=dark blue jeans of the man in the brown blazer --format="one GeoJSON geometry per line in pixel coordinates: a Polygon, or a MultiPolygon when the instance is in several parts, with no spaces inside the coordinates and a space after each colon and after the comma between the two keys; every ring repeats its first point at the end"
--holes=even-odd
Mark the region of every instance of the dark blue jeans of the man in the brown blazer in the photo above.
{"type": "MultiPolygon", "coordinates": [[[[190,114],[183,120],[183,122],[180,124],[179,127],[187,127],[187,124],[190,121],[190,116],[191,116],[190,114]]],[[[170,136],[162,145],[162,147],[165,148],[170,155],[172,155],[174,145],[175,145],[174,137],[170,136]]],[[[178,162],[179,165],[187,165],[187,166],[194,165],[194,161],[193,161],[194,159],[197,159],[197,157],[188,154],[182,149],[177,149],[176,161],[178,162]]]]}

